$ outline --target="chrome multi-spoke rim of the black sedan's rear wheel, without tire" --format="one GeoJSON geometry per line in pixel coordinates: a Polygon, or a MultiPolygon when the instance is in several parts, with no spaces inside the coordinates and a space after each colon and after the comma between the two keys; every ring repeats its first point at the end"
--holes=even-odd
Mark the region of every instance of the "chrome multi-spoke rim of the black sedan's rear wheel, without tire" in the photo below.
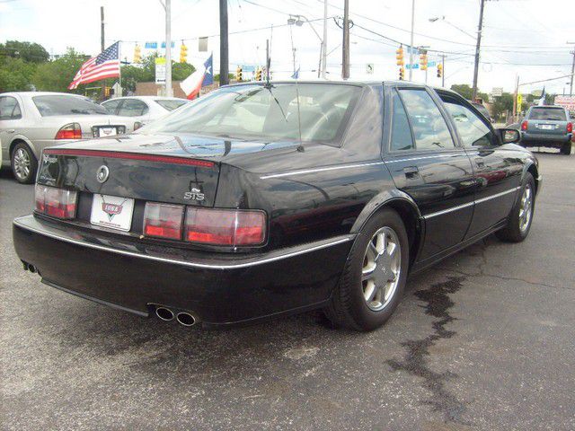
{"type": "Polygon", "coordinates": [[[402,268],[402,251],[397,233],[382,227],[367,243],[361,271],[363,297],[367,307],[379,312],[394,297],[402,268]]]}

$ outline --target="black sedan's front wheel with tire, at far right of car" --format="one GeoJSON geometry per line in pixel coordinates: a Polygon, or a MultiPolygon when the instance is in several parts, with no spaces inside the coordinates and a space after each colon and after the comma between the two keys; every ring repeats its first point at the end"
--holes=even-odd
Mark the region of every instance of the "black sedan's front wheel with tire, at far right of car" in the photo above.
{"type": "Polygon", "coordinates": [[[535,180],[531,173],[526,172],[519,192],[519,198],[511,209],[507,225],[495,233],[501,241],[522,242],[531,229],[535,212],[535,180]],[[528,207],[528,213],[523,213],[523,210],[526,209],[525,206],[528,207]]]}

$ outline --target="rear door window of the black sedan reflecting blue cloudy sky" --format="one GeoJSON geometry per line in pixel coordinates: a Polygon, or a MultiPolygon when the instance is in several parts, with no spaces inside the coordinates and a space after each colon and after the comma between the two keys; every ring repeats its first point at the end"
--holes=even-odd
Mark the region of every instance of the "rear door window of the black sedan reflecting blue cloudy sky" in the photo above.
{"type": "Polygon", "coordinates": [[[454,148],[446,120],[425,90],[400,90],[403,104],[413,128],[417,150],[454,148]]]}

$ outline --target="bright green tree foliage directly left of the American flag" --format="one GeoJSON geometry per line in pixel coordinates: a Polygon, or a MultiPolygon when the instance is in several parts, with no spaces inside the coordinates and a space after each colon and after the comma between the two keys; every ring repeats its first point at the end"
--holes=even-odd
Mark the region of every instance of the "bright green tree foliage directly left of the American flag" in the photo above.
{"type": "Polygon", "coordinates": [[[36,68],[32,84],[41,92],[77,92],[84,93],[84,85],[76,90],[67,90],[75,74],[88,57],[79,54],[74,48],[67,48],[66,55],[53,61],[42,63],[36,68]]]}

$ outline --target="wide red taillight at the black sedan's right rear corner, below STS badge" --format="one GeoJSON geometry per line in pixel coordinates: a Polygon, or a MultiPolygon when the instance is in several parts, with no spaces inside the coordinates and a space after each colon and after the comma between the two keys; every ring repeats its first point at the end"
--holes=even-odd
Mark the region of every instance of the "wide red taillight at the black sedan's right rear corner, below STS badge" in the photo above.
{"type": "Polygon", "coordinates": [[[265,238],[266,217],[261,211],[188,207],[184,239],[216,245],[257,245],[265,238]]]}

